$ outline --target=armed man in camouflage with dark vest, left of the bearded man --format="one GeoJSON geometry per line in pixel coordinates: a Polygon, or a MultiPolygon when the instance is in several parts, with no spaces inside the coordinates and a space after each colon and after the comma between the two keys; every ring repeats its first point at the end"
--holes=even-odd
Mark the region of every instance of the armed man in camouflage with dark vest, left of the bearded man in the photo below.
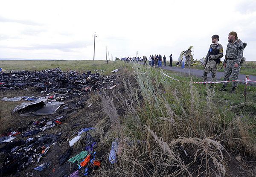
{"type": "Polygon", "coordinates": [[[221,44],[218,44],[219,36],[212,36],[212,43],[210,45],[209,51],[205,58],[205,67],[204,67],[204,78],[203,81],[207,81],[207,74],[212,72],[212,81],[215,81],[215,75],[217,72],[217,64],[220,63],[221,57],[223,57],[223,47],[221,44]]]}

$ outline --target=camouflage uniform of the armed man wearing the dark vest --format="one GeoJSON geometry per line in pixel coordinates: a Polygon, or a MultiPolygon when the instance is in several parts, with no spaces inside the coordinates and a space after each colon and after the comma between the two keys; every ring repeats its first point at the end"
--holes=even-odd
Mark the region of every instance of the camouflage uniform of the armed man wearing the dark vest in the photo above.
{"type": "MultiPolygon", "coordinates": [[[[216,72],[217,72],[216,60],[218,58],[223,57],[223,47],[221,46],[221,44],[211,44],[210,49],[212,49],[212,50],[217,49],[218,50],[218,55],[213,55],[214,56],[213,59],[211,59],[210,56],[207,56],[207,58],[205,58],[204,63],[207,62],[207,64],[206,64],[205,69],[204,69],[203,81],[207,81],[207,74],[209,74],[210,72],[212,72],[212,81],[215,81],[215,75],[216,75],[216,72]]],[[[210,49],[209,49],[209,51],[210,51],[210,49]]]]}

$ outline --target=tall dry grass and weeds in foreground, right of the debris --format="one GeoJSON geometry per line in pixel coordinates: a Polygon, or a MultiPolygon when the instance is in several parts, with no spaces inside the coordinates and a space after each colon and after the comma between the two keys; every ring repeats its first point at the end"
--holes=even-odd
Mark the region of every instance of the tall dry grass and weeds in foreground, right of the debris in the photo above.
{"type": "MultiPolygon", "coordinates": [[[[123,141],[117,164],[105,162],[97,176],[224,177],[228,175],[226,148],[235,152],[245,148],[254,154],[250,131],[255,122],[232,117],[239,106],[216,102],[214,88],[200,90],[193,84],[180,84],[147,67],[135,65],[134,73],[140,90],[125,79],[125,92],[112,93],[114,99],[105,94],[108,101],[102,103],[111,124],[119,119],[122,128],[116,137],[122,134],[137,143],[123,141]],[[125,113],[113,116],[113,107],[122,107],[125,113]]],[[[110,132],[101,142],[105,147],[110,147],[116,135],[110,132]]]]}

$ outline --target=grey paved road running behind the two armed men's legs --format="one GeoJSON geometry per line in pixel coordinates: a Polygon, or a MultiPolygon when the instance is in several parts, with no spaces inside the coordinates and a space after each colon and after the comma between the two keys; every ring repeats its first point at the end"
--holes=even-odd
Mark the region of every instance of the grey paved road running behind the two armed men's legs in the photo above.
{"type": "MultiPolygon", "coordinates": [[[[161,67],[162,69],[165,69],[165,70],[171,70],[171,71],[175,71],[175,72],[180,72],[180,73],[186,73],[186,74],[190,74],[190,75],[195,75],[197,76],[198,78],[202,78],[203,80],[203,70],[198,70],[198,69],[193,69],[191,68],[190,70],[185,68],[185,69],[182,69],[180,67],[169,67],[169,66],[163,66],[161,67]]],[[[211,73],[208,74],[208,81],[211,81],[211,73]]],[[[220,81],[221,78],[223,79],[224,78],[224,73],[223,72],[217,72],[216,73],[216,76],[215,76],[216,80],[220,81]]],[[[244,74],[239,74],[239,80],[244,80],[245,78],[245,75],[244,74]]],[[[232,77],[230,78],[230,80],[232,79],[232,77]]],[[[256,81],[256,76],[255,75],[250,75],[249,76],[249,79],[250,80],[253,80],[253,81],[256,81]]],[[[244,83],[245,81],[239,81],[241,83],[244,83]]],[[[256,85],[256,82],[248,82],[250,85],[256,85]]]]}

